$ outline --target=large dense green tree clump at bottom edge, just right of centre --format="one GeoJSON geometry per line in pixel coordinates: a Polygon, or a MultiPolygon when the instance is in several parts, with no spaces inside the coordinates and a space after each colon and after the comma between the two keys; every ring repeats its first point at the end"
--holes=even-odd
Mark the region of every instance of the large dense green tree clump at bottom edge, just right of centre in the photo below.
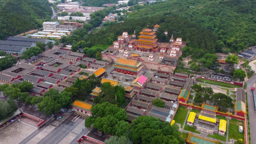
{"type": "Polygon", "coordinates": [[[152,116],[139,116],[132,120],[128,137],[134,144],[184,144],[180,134],[176,125],[152,116]]]}

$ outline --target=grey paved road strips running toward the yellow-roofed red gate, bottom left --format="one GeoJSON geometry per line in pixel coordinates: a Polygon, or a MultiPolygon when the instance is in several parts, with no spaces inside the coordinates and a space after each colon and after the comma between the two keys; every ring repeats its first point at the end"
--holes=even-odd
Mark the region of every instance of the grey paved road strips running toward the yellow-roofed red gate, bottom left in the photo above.
{"type": "Polygon", "coordinates": [[[46,135],[42,140],[40,140],[37,144],[58,144],[60,141],[63,140],[63,138],[67,137],[68,134],[73,133],[76,134],[77,137],[72,141],[74,143],[82,134],[86,134],[88,132],[87,129],[84,129],[79,134],[72,132],[73,129],[77,127],[81,123],[81,121],[84,121],[85,117],[82,117],[81,115],[77,114],[71,114],[67,119],[65,119],[60,125],[56,126],[53,125],[52,122],[55,121],[55,119],[51,120],[50,122],[47,122],[45,126],[41,128],[41,130],[34,132],[33,134],[29,135],[27,138],[25,138],[21,143],[19,144],[26,144],[28,141],[30,141],[32,138],[34,138],[37,134],[39,134],[40,131],[45,129],[47,126],[52,125],[55,126],[54,130],[52,130],[48,135],[46,135]]]}

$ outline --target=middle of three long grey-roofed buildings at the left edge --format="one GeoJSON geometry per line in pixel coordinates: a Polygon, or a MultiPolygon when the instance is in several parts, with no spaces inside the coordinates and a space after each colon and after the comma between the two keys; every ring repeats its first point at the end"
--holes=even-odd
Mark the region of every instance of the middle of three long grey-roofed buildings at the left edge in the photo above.
{"type": "Polygon", "coordinates": [[[36,46],[36,44],[35,43],[27,43],[27,42],[12,42],[9,40],[0,40],[0,46],[31,48],[31,47],[36,46]]]}

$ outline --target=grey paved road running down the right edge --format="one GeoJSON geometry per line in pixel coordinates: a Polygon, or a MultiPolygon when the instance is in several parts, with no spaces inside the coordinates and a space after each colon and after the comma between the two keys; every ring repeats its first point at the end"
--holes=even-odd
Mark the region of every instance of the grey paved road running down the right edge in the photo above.
{"type": "Polygon", "coordinates": [[[256,134],[256,113],[255,113],[255,105],[253,100],[253,94],[250,91],[250,88],[253,87],[253,84],[256,82],[256,75],[253,75],[247,81],[247,102],[249,109],[249,122],[250,122],[250,134],[251,134],[251,143],[256,144],[256,137],[253,135],[256,134]]]}

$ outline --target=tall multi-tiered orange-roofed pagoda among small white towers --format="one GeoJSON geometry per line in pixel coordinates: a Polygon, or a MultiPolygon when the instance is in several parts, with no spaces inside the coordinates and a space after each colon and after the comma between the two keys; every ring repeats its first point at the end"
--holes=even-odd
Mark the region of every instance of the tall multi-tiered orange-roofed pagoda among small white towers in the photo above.
{"type": "Polygon", "coordinates": [[[146,28],[140,32],[138,36],[137,45],[134,48],[140,52],[157,52],[159,49],[156,44],[156,32],[152,29],[146,28]]]}

